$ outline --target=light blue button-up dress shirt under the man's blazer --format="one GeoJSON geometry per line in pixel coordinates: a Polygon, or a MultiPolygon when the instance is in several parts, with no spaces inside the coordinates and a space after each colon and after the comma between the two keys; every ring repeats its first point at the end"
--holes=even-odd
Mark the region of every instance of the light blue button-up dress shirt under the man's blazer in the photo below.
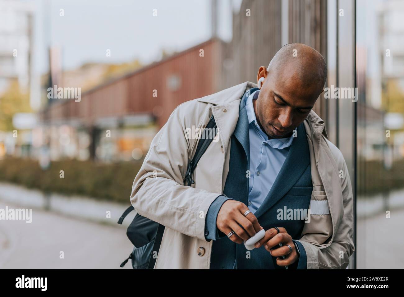
{"type": "Polygon", "coordinates": [[[255,117],[252,100],[255,91],[246,98],[248,131],[250,136],[250,180],[248,183],[248,209],[255,213],[274,185],[288,155],[293,136],[268,139],[255,117]]]}

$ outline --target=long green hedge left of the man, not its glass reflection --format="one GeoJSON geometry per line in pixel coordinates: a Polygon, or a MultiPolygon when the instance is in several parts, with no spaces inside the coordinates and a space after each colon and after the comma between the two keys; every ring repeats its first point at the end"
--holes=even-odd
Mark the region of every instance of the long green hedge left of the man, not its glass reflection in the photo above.
{"type": "Polygon", "coordinates": [[[94,161],[51,162],[48,170],[37,160],[6,158],[0,160],[0,181],[17,183],[44,192],[78,194],[129,204],[132,184],[142,160],[103,164],[94,161]],[[64,171],[64,178],[59,171],[64,171]]]}

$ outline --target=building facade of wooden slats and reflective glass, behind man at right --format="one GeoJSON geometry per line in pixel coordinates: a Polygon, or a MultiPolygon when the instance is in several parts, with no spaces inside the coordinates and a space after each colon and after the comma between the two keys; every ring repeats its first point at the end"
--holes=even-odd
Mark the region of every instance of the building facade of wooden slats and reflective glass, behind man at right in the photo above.
{"type": "Polygon", "coordinates": [[[224,55],[223,88],[255,81],[259,67],[287,43],[305,43],[325,57],[330,93],[314,111],[351,178],[350,269],[404,263],[404,239],[397,236],[404,217],[403,19],[404,2],[396,0],[244,0],[224,55]]]}

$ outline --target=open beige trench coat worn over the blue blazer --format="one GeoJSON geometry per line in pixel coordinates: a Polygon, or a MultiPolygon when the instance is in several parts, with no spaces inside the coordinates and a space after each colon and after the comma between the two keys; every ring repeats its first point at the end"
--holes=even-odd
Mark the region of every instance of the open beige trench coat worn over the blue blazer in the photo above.
{"type": "MultiPolygon", "coordinates": [[[[213,240],[205,240],[206,213],[223,193],[240,100],[254,87],[257,84],[243,82],[180,104],[151,142],[130,202],[140,215],[166,226],[155,269],[209,269],[213,240]],[[196,183],[189,187],[183,177],[198,139],[189,139],[187,128],[203,128],[212,114],[219,139],[210,143],[194,171],[196,183]]],[[[324,121],[311,111],[304,125],[314,186],[311,200],[328,200],[330,214],[311,215],[299,241],[307,269],[344,269],[355,250],[349,173],[341,152],[327,139],[324,121]]]]}

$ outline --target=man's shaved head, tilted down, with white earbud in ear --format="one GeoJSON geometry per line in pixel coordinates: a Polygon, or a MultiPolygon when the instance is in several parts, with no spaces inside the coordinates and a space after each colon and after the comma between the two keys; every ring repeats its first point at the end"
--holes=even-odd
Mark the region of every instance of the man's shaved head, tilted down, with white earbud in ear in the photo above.
{"type": "Polygon", "coordinates": [[[252,104],[257,122],[269,138],[292,135],[324,91],[326,79],[324,57],[301,43],[282,46],[267,68],[259,67],[261,89],[252,104]]]}

